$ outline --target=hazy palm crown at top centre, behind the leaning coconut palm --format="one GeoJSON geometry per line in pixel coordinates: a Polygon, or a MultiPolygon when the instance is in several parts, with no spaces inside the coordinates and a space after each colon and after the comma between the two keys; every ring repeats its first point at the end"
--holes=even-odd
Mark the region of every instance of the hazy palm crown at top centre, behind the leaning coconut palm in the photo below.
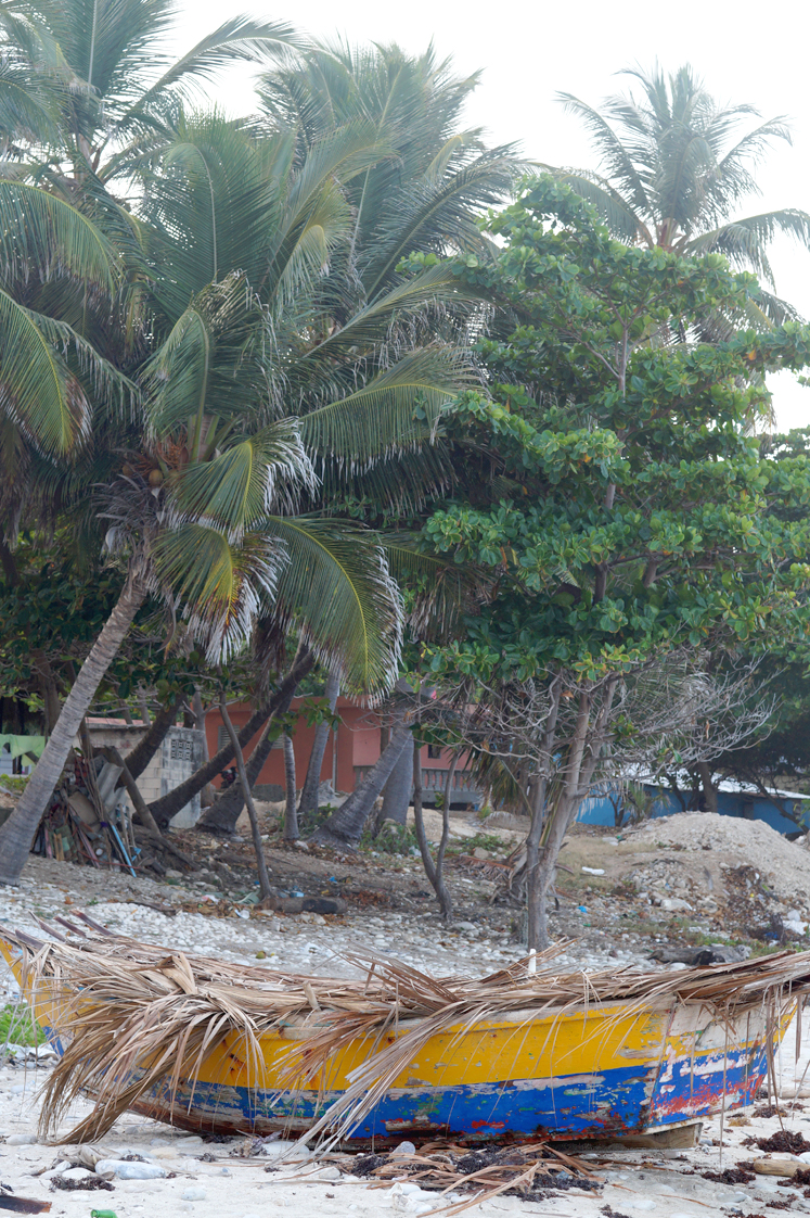
{"type": "Polygon", "coordinates": [[[339,41],[311,44],[259,78],[266,123],[296,129],[298,156],[347,123],[372,129],[389,150],[347,188],[366,300],[401,281],[398,264],[414,251],[488,256],[477,218],[504,201],[525,164],[514,145],[488,149],[480,129],[461,125],[478,80],[456,77],[432,45],[414,56],[339,41]]]}

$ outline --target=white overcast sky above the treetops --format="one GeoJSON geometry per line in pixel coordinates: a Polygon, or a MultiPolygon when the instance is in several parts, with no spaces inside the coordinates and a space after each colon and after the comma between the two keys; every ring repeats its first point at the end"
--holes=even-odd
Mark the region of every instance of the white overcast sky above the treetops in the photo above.
{"type": "MultiPolygon", "coordinates": [[[[491,143],[517,140],[523,152],[551,164],[595,166],[578,121],[556,102],[567,91],[597,105],[626,88],[624,67],[665,71],[688,62],[722,102],[749,102],[764,118],[787,116],[793,146],[777,144],[759,169],[763,196],[744,214],[766,208],[810,211],[810,89],[806,0],[754,5],[752,0],[703,0],[696,5],[641,5],[630,0],[541,4],[512,0],[300,0],[285,7],[215,0],[180,0],[179,49],[237,12],[283,19],[317,38],[339,33],[353,43],[396,41],[421,51],[431,41],[451,56],[460,73],[483,69],[468,107],[469,125],[486,128],[491,143]]],[[[251,110],[244,68],[224,77],[220,104],[234,113],[251,110]]],[[[772,264],[781,296],[810,318],[810,253],[791,241],[775,246],[772,264]]],[[[810,389],[789,374],[771,381],[777,425],[810,425],[810,389]]]]}

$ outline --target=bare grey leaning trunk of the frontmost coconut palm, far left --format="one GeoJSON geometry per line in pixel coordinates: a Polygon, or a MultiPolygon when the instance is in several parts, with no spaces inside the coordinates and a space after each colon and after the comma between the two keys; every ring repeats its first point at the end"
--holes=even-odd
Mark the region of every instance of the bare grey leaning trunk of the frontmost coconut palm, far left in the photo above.
{"type": "Polygon", "coordinates": [[[34,833],[60,781],[81,720],[145,599],[146,585],[140,574],[135,575],[130,568],[120,597],[64,699],[45,752],[19,803],[0,828],[0,884],[15,884],[19,879],[34,833]]]}

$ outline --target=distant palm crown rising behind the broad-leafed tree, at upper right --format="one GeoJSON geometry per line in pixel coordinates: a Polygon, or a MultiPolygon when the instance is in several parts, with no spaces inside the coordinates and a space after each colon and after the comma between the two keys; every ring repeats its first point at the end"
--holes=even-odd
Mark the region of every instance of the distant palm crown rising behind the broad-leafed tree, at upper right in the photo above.
{"type": "MultiPolygon", "coordinates": [[[[775,289],[767,247],[777,234],[810,247],[810,214],[786,208],[738,217],[736,211],[744,199],[761,194],[753,169],[769,146],[789,143],[784,118],[741,134],[741,124],[758,111],[720,106],[688,65],[669,78],[658,67],[624,74],[640,83],[640,97],[608,97],[598,110],[572,94],[559,95],[590,132],[601,172],[553,172],[595,205],[619,240],[687,256],[724,253],[775,289]]],[[[795,315],[767,292],[761,304],[774,322],[795,315]]]]}

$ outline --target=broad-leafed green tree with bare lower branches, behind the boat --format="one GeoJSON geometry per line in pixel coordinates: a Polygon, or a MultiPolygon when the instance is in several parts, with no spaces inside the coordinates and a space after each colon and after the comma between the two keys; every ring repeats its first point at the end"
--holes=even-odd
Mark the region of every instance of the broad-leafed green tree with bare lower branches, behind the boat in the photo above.
{"type": "Polygon", "coordinates": [[[557,854],[594,784],[697,754],[722,702],[708,657],[806,638],[810,466],[764,457],[743,423],[767,406],[764,371],[808,362],[810,330],[662,345],[662,326],[742,309],[754,281],[716,253],[619,244],[552,179],[491,229],[497,267],[460,261],[459,275],[519,324],[482,343],[493,401],[471,395],[459,419],[494,476],[424,532],[494,586],[431,667],[477,704],[482,750],[530,761],[541,945],[557,854]]]}

